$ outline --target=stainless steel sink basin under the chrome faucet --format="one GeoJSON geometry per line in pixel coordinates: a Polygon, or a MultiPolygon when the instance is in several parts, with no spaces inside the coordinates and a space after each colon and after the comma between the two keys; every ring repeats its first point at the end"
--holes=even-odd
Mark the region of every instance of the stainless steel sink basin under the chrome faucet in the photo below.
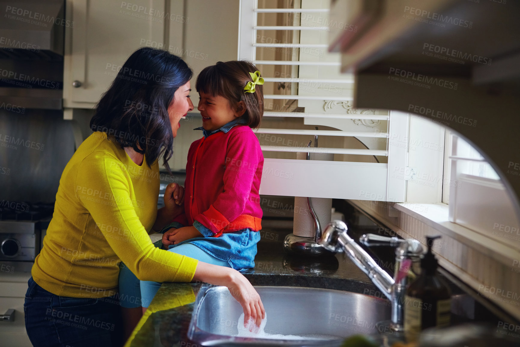
{"type": "Polygon", "coordinates": [[[188,337],[201,345],[218,346],[339,345],[341,339],[356,333],[377,333],[376,323],[390,318],[390,302],[373,296],[302,287],[255,288],[267,313],[264,331],[302,339],[233,336],[238,334],[242,307],[226,287],[209,285],[197,295],[188,337]]]}

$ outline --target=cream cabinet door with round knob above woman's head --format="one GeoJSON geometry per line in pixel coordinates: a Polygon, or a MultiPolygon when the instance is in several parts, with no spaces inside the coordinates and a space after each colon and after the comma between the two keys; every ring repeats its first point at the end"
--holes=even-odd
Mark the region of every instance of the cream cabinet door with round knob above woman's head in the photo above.
{"type": "Polygon", "coordinates": [[[132,52],[164,46],[172,15],[164,0],[67,0],[64,107],[94,107],[132,52]]]}

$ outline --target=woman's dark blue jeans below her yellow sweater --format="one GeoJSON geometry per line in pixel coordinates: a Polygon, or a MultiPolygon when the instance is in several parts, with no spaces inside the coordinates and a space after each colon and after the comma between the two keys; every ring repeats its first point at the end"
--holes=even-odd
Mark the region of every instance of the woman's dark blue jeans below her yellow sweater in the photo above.
{"type": "Polygon", "coordinates": [[[122,320],[116,295],[70,298],[50,293],[31,277],[25,294],[25,329],[35,347],[119,347],[122,320]]]}

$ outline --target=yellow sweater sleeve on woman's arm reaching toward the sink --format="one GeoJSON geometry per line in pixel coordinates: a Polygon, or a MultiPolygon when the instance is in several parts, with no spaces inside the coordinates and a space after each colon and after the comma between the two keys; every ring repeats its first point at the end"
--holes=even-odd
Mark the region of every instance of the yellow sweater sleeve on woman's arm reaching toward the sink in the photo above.
{"type": "Polygon", "coordinates": [[[76,182],[84,188],[76,190],[77,199],[98,226],[106,226],[99,231],[138,279],[190,282],[197,260],[154,247],[135,206],[146,207],[155,202],[135,200],[132,182],[124,170],[113,157],[93,154],[85,158],[77,171],[76,182]]]}

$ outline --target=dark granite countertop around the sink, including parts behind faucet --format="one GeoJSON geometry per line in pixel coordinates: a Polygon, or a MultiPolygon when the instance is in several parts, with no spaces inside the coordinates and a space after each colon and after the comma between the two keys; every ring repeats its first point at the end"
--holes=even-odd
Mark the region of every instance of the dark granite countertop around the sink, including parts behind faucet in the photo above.
{"type": "MultiPolygon", "coordinates": [[[[359,219],[360,213],[354,211],[350,205],[343,205],[337,206],[336,210],[342,210],[349,219],[348,232],[353,239],[359,239],[363,233],[369,232],[394,236],[391,231],[376,225],[375,222],[362,225],[353,222],[354,219],[359,219]]],[[[288,222],[288,218],[269,220],[265,223],[266,227],[260,231],[261,241],[258,242],[255,268],[244,273],[254,286],[327,288],[381,298],[381,293],[369,278],[344,254],[336,254],[319,261],[285,254],[282,242],[285,236],[292,232],[287,228],[288,222]]],[[[264,225],[264,220],[262,224],[264,225]]],[[[393,276],[395,253],[392,247],[362,247],[393,276]]],[[[480,298],[474,300],[474,293],[463,289],[465,287],[461,286],[460,280],[452,278],[446,270],[439,270],[449,275],[441,277],[452,291],[452,324],[467,321],[487,322],[496,327],[497,321],[504,320],[482,305],[480,298]]],[[[202,284],[163,283],[126,346],[199,347],[196,342],[188,339],[187,332],[194,302],[202,284]]]]}

